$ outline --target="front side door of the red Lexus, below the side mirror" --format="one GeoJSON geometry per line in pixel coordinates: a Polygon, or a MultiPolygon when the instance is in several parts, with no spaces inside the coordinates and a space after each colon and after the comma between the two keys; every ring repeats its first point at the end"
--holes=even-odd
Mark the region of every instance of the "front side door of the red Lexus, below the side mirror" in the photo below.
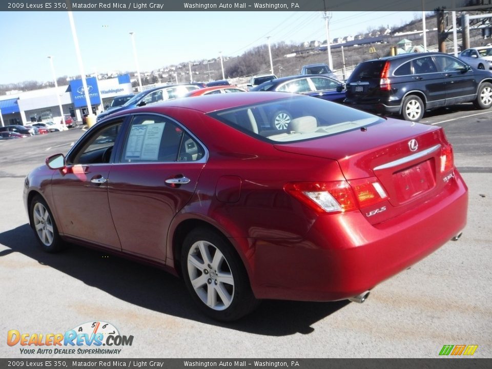
{"type": "Polygon", "coordinates": [[[108,202],[111,153],[121,129],[112,121],[85,137],[52,177],[60,231],[83,241],[121,250],[108,202]]]}

